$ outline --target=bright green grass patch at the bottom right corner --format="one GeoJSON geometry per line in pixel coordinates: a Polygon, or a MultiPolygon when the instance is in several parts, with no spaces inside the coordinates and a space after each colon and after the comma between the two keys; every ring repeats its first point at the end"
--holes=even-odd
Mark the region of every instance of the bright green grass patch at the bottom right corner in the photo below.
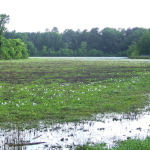
{"type": "Polygon", "coordinates": [[[121,141],[118,143],[117,147],[114,148],[105,148],[106,144],[100,144],[100,145],[84,145],[84,146],[78,146],[76,150],[149,150],[150,149],[150,138],[147,138],[145,140],[126,140],[121,141]]]}

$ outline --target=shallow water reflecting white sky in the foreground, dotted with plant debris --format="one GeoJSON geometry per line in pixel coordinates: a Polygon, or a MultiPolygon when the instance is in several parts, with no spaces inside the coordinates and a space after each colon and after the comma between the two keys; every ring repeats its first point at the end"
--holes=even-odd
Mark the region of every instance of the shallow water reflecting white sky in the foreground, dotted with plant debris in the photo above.
{"type": "Polygon", "coordinates": [[[39,129],[24,131],[1,129],[0,149],[75,149],[76,145],[87,142],[107,143],[107,147],[110,148],[116,146],[118,140],[145,139],[150,136],[150,112],[148,111],[143,111],[141,114],[99,114],[93,116],[93,120],[51,126],[43,125],[41,122],[39,129]],[[22,147],[8,145],[8,143],[25,143],[25,141],[33,145],[22,147]]]}

